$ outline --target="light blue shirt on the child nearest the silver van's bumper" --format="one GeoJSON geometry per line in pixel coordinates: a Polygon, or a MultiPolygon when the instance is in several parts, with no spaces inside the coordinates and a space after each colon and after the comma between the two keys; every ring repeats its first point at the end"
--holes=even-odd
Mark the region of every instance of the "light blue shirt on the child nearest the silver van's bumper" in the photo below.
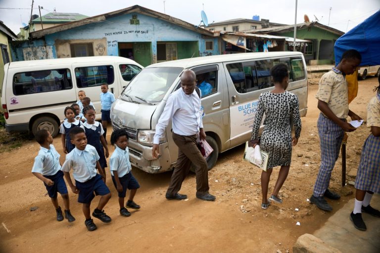
{"type": "Polygon", "coordinates": [[[125,150],[116,146],[115,151],[113,151],[111,158],[109,159],[109,165],[111,170],[111,175],[113,172],[117,171],[119,178],[124,177],[126,174],[131,172],[131,162],[129,161],[129,149],[128,147],[125,150]]]}

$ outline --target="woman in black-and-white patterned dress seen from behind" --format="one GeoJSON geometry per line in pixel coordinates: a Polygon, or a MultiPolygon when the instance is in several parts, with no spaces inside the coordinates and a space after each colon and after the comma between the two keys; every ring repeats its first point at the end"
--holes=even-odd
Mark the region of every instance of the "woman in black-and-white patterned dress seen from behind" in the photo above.
{"type": "Polygon", "coordinates": [[[301,133],[301,119],[299,117],[298,98],[293,93],[286,91],[289,84],[289,72],[285,64],[277,64],[271,69],[275,88],[264,92],[259,97],[258,108],[253,122],[252,137],[249,146],[260,145],[260,149],[269,154],[268,169],[261,173],[262,204],[261,208],[267,209],[270,201],[282,203],[278,197],[283,186],[291,162],[292,145],[296,145],[301,133]],[[263,114],[264,131],[259,140],[259,128],[263,114]],[[294,124],[295,136],[291,137],[291,120],[294,124]],[[268,185],[273,167],[281,166],[273,193],[269,199],[268,185]]]}

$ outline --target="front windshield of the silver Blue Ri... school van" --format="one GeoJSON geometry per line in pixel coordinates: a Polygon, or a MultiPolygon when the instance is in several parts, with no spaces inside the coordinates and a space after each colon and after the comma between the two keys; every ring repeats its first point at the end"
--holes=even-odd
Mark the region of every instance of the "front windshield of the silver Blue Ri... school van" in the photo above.
{"type": "Polygon", "coordinates": [[[124,89],[121,99],[138,104],[157,104],[182,71],[183,68],[174,67],[142,69],[124,89]]]}

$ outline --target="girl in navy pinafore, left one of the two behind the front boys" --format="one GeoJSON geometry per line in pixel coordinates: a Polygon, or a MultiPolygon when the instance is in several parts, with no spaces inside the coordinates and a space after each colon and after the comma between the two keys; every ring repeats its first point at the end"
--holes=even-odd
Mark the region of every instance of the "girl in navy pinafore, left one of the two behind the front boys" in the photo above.
{"type": "Polygon", "coordinates": [[[82,121],[75,118],[75,109],[72,107],[65,108],[66,119],[59,127],[59,133],[62,134],[63,151],[68,154],[74,149],[75,145],[71,143],[70,130],[82,125],[82,121]]]}

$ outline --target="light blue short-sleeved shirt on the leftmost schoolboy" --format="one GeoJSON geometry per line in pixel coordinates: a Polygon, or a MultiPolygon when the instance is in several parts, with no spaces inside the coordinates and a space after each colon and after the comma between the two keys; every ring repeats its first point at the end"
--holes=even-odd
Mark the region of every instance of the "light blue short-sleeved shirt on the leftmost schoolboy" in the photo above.
{"type": "Polygon", "coordinates": [[[34,158],[32,172],[41,173],[43,176],[57,174],[61,169],[59,157],[59,153],[52,144],[49,145],[49,149],[40,147],[38,155],[34,158]]]}

